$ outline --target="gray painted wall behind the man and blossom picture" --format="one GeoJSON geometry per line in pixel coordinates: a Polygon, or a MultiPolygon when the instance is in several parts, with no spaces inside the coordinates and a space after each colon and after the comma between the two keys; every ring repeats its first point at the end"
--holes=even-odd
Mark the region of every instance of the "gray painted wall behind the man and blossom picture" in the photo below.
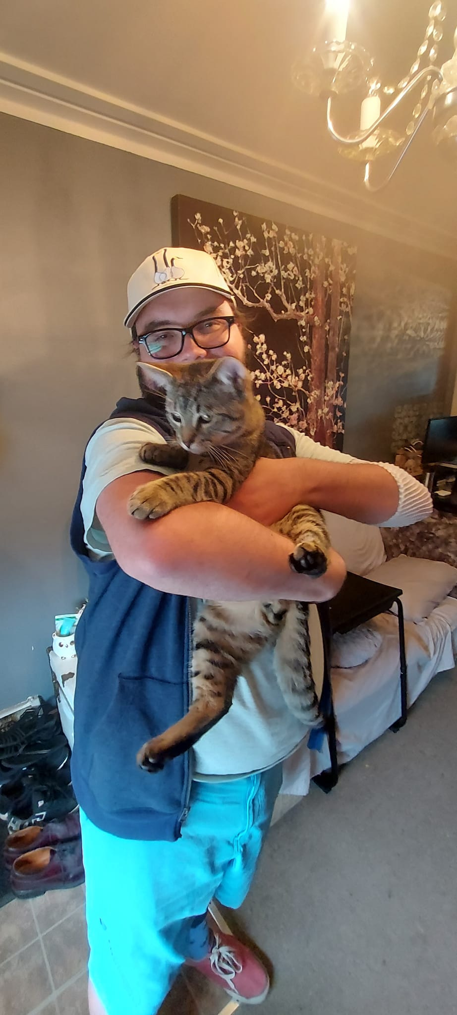
{"type": "MultiPolygon", "coordinates": [[[[170,244],[174,194],[358,243],[345,441],[353,454],[382,457],[390,439],[390,409],[376,397],[367,362],[366,316],[356,324],[374,267],[376,274],[395,255],[400,274],[433,275],[449,288],[454,266],[12,117],[0,116],[0,132],[3,707],[51,693],[46,647],[54,614],[72,610],[85,593],[67,535],[82,453],[117,399],[135,393],[122,326],[125,286],[151,250],[170,244]]],[[[446,371],[437,384],[450,405],[446,371]]]]}

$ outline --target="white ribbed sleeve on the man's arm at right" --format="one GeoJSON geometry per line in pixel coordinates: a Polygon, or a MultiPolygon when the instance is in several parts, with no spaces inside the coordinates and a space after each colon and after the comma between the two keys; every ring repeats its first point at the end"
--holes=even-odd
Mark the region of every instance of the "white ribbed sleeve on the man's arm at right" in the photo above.
{"type": "MultiPolygon", "coordinates": [[[[284,426],[284,423],[281,423],[281,426],[284,426]]],[[[381,528],[396,529],[406,525],[413,525],[415,522],[421,522],[422,519],[428,518],[432,514],[433,503],[429,490],[417,479],[414,479],[413,476],[405,472],[404,469],[400,469],[397,465],[391,465],[390,462],[367,463],[363,459],[353,458],[351,455],[344,455],[342,452],[334,451],[332,448],[325,448],[323,445],[318,444],[317,441],[313,441],[311,437],[306,436],[305,433],[301,433],[300,430],[293,430],[290,426],[284,426],[284,429],[293,434],[298,458],[319,458],[321,461],[345,462],[347,465],[353,463],[358,465],[379,465],[381,469],[385,469],[386,472],[389,472],[393,476],[398,486],[398,507],[392,518],[387,519],[386,522],[379,523],[381,528]]]]}

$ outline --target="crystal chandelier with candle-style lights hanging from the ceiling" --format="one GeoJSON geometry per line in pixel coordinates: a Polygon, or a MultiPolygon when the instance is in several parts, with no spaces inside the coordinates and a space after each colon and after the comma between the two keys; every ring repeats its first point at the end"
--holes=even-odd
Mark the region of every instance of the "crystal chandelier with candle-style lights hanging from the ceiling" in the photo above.
{"type": "Polygon", "coordinates": [[[338,151],[365,163],[365,186],[369,191],[379,191],[392,179],[429,114],[433,117],[435,144],[447,156],[455,158],[457,155],[457,28],[454,55],[439,69],[436,64],[446,9],[441,0],[436,0],[429,11],[423,42],[408,73],[397,85],[383,85],[374,76],[373,60],[367,51],[346,40],[348,7],[349,0],[326,0],[326,41],[295,65],[292,78],[306,94],[327,100],[327,128],[338,142],[338,151]],[[360,129],[345,137],[334,126],[334,104],[339,95],[361,86],[366,90],[366,97],[362,103],[360,129]],[[382,96],[386,96],[383,100],[388,104],[383,112],[382,96]],[[387,123],[401,105],[409,112],[405,116],[404,131],[400,133],[387,123]],[[373,162],[392,152],[398,156],[393,170],[375,183],[373,162]]]}

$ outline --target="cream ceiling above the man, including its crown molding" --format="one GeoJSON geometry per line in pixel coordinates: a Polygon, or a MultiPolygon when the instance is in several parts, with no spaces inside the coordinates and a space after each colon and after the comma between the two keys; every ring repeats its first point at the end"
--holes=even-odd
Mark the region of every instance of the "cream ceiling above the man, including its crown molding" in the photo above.
{"type": "MultiPolygon", "coordinates": [[[[348,35],[398,80],[428,8],[353,0],[348,35]]],[[[452,52],[457,0],[448,9],[440,62],[452,52]]],[[[327,136],[325,107],[293,87],[290,67],[321,10],[321,0],[3,4],[0,110],[457,257],[457,167],[431,145],[428,125],[374,197],[327,136]]]]}

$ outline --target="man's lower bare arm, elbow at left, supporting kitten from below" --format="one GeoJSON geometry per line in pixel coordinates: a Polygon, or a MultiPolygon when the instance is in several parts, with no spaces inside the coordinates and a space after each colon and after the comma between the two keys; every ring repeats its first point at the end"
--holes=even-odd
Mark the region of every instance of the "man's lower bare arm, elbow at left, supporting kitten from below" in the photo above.
{"type": "Polygon", "coordinates": [[[99,496],[96,514],[120,566],[162,592],[200,599],[296,599],[324,602],[345,577],[342,558],[330,551],[319,579],[293,573],[290,540],[217,503],[178,507],[156,521],[129,516],[133,490],[156,473],[135,472],[115,479],[99,496]]]}

